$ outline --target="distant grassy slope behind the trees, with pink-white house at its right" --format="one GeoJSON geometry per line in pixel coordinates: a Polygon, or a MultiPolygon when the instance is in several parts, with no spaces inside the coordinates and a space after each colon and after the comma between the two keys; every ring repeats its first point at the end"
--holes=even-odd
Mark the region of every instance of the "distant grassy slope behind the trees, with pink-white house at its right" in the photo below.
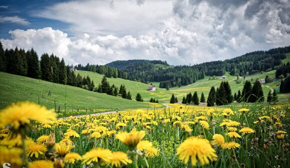
{"type": "MultiPolygon", "coordinates": [[[[101,79],[103,77],[103,75],[100,75],[98,73],[93,73],[93,72],[88,72],[88,71],[77,71],[75,74],[79,73],[79,75],[81,76],[89,76],[90,79],[93,80],[94,85],[98,86],[98,84],[101,82],[101,79]]],[[[135,99],[136,94],[139,92],[143,98],[144,101],[149,101],[150,98],[155,98],[155,99],[162,99],[164,97],[169,97],[171,96],[172,93],[164,90],[164,89],[160,89],[160,88],[156,88],[157,90],[155,92],[149,92],[147,91],[147,84],[144,83],[140,83],[140,82],[134,82],[134,81],[130,81],[130,80],[124,80],[124,79],[120,79],[120,78],[107,78],[107,81],[109,82],[110,85],[114,84],[115,86],[117,86],[118,88],[120,87],[120,85],[125,85],[126,90],[130,91],[131,95],[132,95],[132,99],[135,99]]],[[[158,87],[159,85],[157,85],[158,87]]]]}

